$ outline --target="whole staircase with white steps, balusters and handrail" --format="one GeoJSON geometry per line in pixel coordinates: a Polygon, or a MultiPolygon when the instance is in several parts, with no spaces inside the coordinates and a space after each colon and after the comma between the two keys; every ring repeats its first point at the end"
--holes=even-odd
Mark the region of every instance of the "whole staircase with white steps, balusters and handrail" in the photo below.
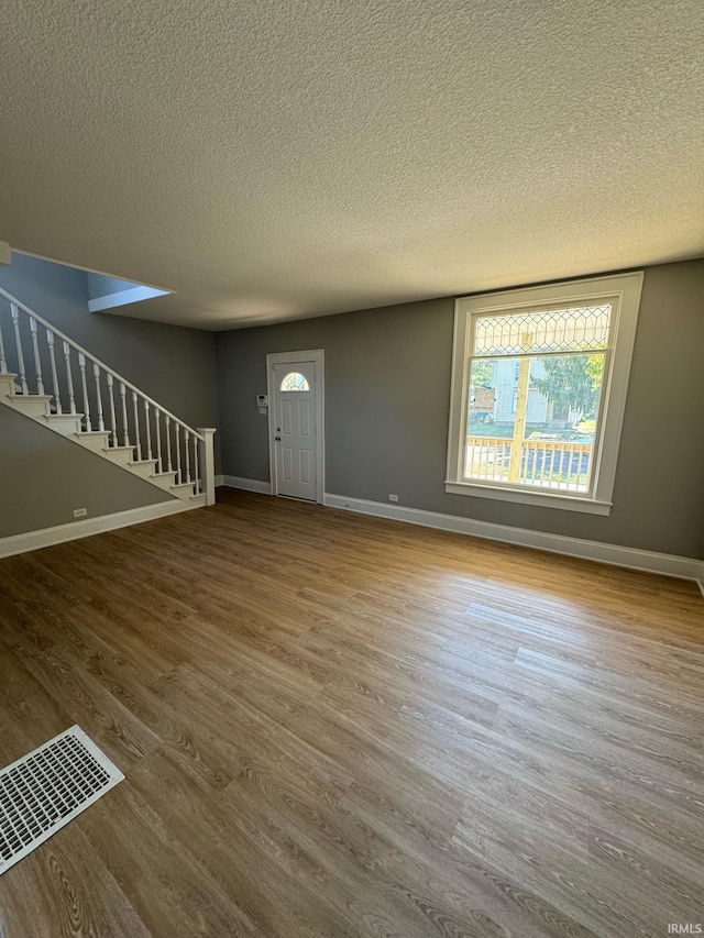
{"type": "Polygon", "coordinates": [[[215,503],[215,430],[188,427],[1,287],[0,404],[194,508],[215,503]]]}

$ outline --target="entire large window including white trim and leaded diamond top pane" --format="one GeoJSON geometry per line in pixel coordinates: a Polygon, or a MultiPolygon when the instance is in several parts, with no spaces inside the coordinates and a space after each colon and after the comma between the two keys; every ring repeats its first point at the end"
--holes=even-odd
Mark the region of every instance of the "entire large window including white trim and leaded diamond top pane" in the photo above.
{"type": "Polygon", "coordinates": [[[641,282],[458,300],[449,492],[608,514],[641,282]]]}

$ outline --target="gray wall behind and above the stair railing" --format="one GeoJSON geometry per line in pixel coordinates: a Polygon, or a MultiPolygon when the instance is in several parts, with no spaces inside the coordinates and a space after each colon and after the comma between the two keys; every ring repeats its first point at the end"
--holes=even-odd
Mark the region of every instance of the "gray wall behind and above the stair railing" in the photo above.
{"type": "MultiPolygon", "coordinates": [[[[89,312],[84,271],[14,252],[12,263],[0,267],[0,287],[186,423],[218,427],[216,346],[211,332],[145,322],[114,312],[89,312]]],[[[216,434],[217,465],[219,455],[216,434]]]]}

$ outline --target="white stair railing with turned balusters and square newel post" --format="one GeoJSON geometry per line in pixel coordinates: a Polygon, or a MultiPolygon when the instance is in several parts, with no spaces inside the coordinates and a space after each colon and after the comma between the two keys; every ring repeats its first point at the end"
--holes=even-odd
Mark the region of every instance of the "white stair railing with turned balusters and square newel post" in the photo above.
{"type": "Polygon", "coordinates": [[[47,395],[55,413],[80,419],[81,433],[105,433],[106,449],[130,448],[134,462],[154,462],[155,475],[215,503],[215,430],[184,423],[2,287],[0,297],[10,310],[0,304],[0,374],[16,375],[18,394],[47,395]]]}

